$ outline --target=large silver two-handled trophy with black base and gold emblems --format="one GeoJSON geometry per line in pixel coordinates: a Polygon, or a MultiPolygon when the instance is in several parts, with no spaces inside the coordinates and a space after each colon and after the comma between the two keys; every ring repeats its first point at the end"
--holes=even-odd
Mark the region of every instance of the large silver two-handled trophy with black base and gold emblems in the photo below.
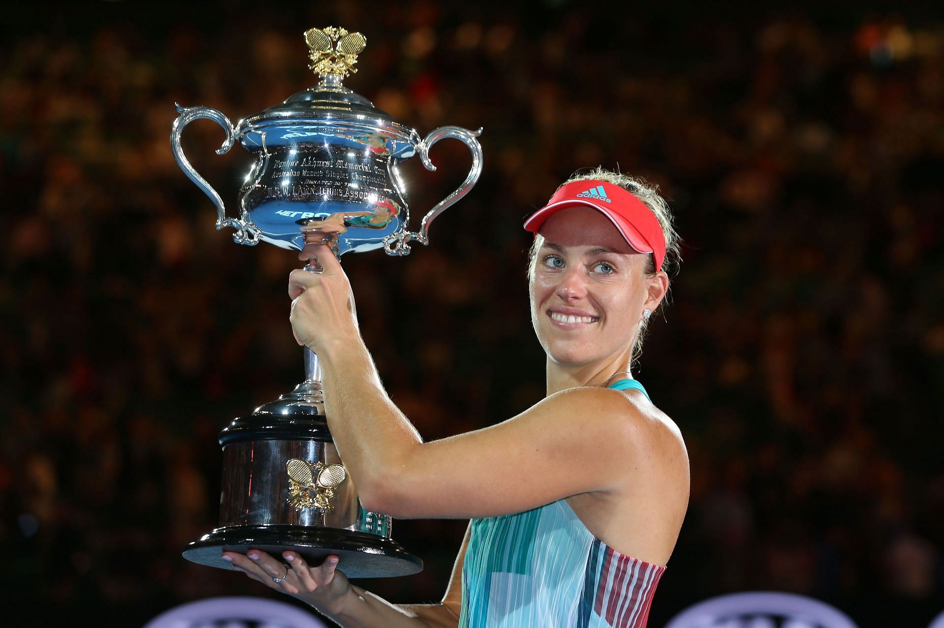
{"type": "MultiPolygon", "coordinates": [[[[312,233],[340,258],[382,248],[388,255],[410,253],[410,242],[428,243],[430,223],[461,199],[481,173],[478,131],[443,126],[425,138],[342,86],[356,69],[366,39],[344,28],[312,28],[305,33],[309,65],[320,77],[316,87],[232,124],[212,107],[180,107],[171,133],[177,165],[216,206],[216,228],[235,229],[233,240],[260,241],[300,251],[312,233]],[[227,137],[216,151],[227,153],[236,140],[255,160],[239,193],[239,218],[228,218],[223,199],[196,173],[180,147],[183,128],[206,118],[227,137]],[[418,231],[408,231],[409,208],[397,167],[419,155],[436,169],[430,147],[439,140],[462,140],[472,168],[458,190],[433,207],[418,231]]],[[[312,263],[307,267],[317,271],[312,263]]],[[[203,565],[233,569],[222,551],[250,547],[280,554],[291,549],[317,564],[340,556],[348,577],[407,575],[422,561],[390,538],[391,519],[365,510],[357,488],[331,440],[320,385],[318,358],[305,349],[305,381],[221,433],[223,487],[219,527],[184,551],[203,565]]]]}

